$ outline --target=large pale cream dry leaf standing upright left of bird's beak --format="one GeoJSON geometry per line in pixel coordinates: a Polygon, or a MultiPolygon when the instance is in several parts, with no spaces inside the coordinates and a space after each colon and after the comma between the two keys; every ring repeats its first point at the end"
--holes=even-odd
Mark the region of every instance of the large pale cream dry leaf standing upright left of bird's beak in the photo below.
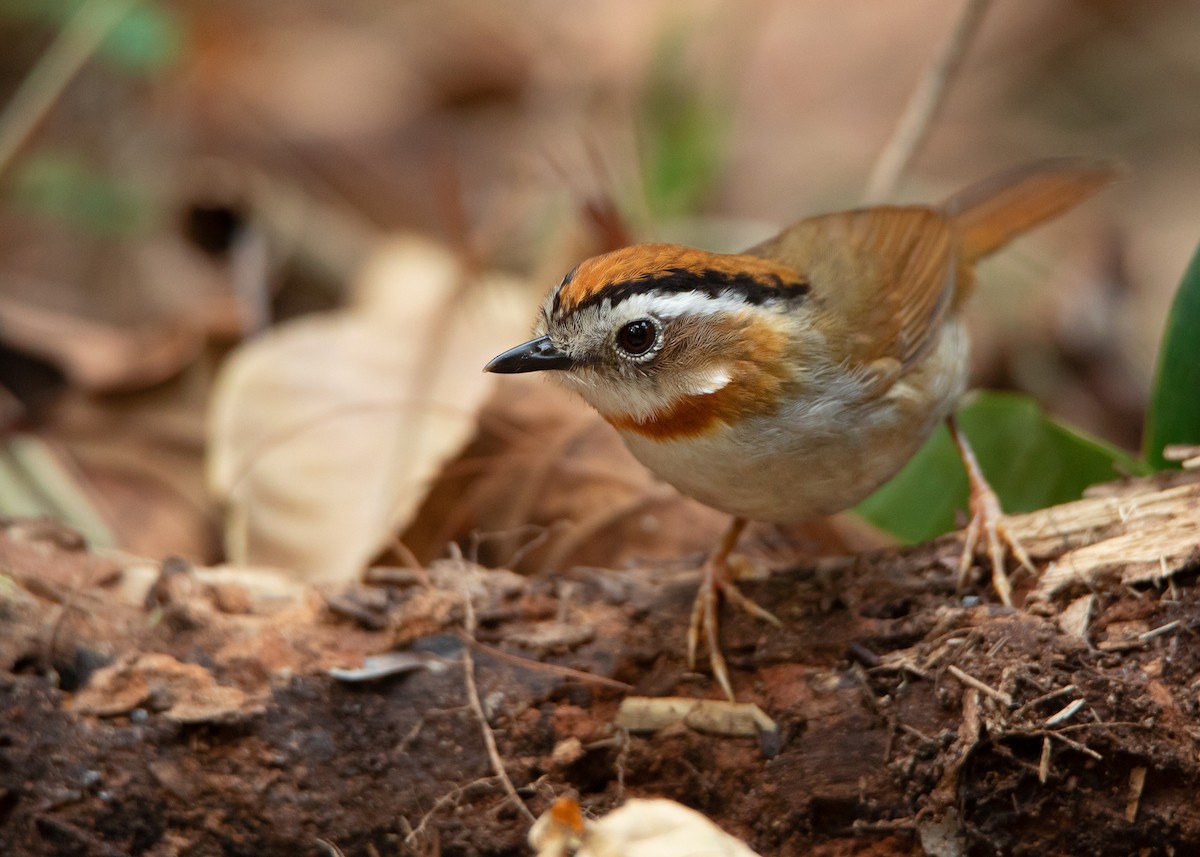
{"type": "Polygon", "coordinates": [[[382,247],[356,295],[247,343],[217,380],[209,481],[236,564],[356,577],[469,439],[482,366],[529,319],[516,283],[468,280],[416,238],[382,247]]]}

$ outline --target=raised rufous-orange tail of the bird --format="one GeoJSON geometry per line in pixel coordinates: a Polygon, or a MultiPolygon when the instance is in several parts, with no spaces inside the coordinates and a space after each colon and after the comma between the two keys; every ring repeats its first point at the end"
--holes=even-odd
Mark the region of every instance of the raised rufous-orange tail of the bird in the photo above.
{"type": "Polygon", "coordinates": [[[954,220],[964,258],[974,262],[1075,208],[1122,174],[1109,161],[1046,158],[984,179],[947,199],[942,210],[954,220]]]}

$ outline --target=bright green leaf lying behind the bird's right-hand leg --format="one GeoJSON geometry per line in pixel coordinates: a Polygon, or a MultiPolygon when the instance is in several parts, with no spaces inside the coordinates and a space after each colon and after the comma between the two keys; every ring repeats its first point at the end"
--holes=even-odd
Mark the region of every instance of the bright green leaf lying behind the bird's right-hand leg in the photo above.
{"type": "MultiPolygon", "coordinates": [[[[1008,513],[1078,499],[1088,485],[1146,469],[1120,449],[1057,422],[1024,396],[980,392],[956,418],[1008,513]]],[[[962,461],[943,425],[857,511],[904,541],[922,541],[954,529],[967,492],[962,461]]]]}

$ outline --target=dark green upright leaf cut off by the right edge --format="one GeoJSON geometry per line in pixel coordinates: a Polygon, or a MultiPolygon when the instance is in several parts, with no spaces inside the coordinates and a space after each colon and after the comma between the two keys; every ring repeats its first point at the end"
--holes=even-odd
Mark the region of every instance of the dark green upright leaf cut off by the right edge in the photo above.
{"type": "Polygon", "coordinates": [[[1156,468],[1171,467],[1163,448],[1172,443],[1200,444],[1200,247],[1166,316],[1142,456],[1156,468]]]}

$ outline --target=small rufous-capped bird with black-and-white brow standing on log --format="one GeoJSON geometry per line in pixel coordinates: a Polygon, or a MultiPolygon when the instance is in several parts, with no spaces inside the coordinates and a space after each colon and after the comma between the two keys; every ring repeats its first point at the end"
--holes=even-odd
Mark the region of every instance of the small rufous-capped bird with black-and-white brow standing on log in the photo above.
{"type": "Polygon", "coordinates": [[[550,372],[619,432],[659,479],[732,515],[704,562],[688,628],[734,699],[719,597],[779,619],[737,587],[748,521],[793,523],[852,508],[947,422],[971,486],[960,587],[985,549],[1006,605],[1006,527],[954,409],[968,380],[964,305],[976,263],[1112,182],[1085,157],[1016,167],[936,205],[805,217],[740,253],[635,244],[586,259],[552,288],[533,338],[485,371],[550,372]]]}

